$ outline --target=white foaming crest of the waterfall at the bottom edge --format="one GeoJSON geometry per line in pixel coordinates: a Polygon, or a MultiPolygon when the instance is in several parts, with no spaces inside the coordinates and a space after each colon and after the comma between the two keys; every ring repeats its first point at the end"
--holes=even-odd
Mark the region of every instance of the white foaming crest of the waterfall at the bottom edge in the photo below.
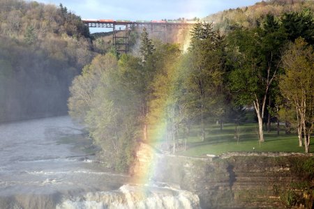
{"type": "Polygon", "coordinates": [[[200,208],[196,194],[172,187],[124,185],[112,192],[88,192],[82,197],[66,199],[58,209],[74,208],[200,208]],[[144,192],[143,192],[144,190],[144,192]]]}

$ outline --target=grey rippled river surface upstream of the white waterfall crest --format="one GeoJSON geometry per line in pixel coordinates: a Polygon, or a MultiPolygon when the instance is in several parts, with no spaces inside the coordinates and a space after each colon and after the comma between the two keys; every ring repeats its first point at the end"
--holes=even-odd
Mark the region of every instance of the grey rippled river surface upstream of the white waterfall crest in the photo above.
{"type": "Polygon", "coordinates": [[[77,146],[83,138],[82,127],[69,116],[1,124],[0,208],[56,208],[127,183],[128,176],[94,161],[87,144],[77,146]]]}

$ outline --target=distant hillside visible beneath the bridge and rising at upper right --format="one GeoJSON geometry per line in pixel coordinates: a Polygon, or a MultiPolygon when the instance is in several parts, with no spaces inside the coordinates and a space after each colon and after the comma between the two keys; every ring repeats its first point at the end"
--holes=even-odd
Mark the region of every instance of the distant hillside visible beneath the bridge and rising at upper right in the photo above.
{"type": "MultiPolygon", "coordinates": [[[[202,18],[204,21],[214,22],[214,29],[219,29],[222,32],[230,31],[234,28],[243,27],[255,27],[259,24],[262,17],[271,13],[275,16],[281,15],[285,12],[299,12],[304,8],[310,8],[314,12],[314,1],[306,0],[269,0],[255,3],[253,6],[245,6],[241,8],[234,8],[224,10],[213,15],[202,18]]],[[[181,20],[179,18],[178,20],[181,20]]],[[[132,46],[132,52],[137,53],[139,42],[137,38],[140,36],[141,30],[137,29],[133,31],[130,45],[132,46]]],[[[108,52],[112,44],[112,32],[109,33],[94,33],[94,49],[97,52],[108,52]]],[[[181,49],[186,49],[188,46],[188,31],[186,30],[168,30],[167,35],[165,33],[150,34],[152,38],[160,39],[167,42],[177,42],[181,44],[181,49]]]]}

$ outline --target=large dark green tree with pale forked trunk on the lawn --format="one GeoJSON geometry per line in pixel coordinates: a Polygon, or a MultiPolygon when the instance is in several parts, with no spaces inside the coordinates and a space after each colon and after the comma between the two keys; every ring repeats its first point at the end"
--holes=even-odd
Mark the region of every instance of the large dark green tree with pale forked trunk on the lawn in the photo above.
{"type": "Polygon", "coordinates": [[[253,104],[259,125],[259,139],[264,141],[263,119],[267,96],[274,88],[280,70],[281,47],[285,33],[278,29],[274,17],[268,15],[264,28],[239,29],[229,36],[230,90],[238,104],[253,104]],[[235,49],[235,50],[234,50],[235,49]]]}

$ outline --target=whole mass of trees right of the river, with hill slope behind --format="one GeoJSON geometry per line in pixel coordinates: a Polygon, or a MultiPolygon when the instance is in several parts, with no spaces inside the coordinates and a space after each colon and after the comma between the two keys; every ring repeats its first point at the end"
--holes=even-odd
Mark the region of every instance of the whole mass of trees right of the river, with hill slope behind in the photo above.
{"type": "MultiPolygon", "coordinates": [[[[191,146],[210,144],[209,125],[218,121],[220,131],[226,122],[239,125],[246,107],[255,111],[260,144],[265,141],[263,124],[269,128],[276,121],[298,133],[295,146],[299,136],[299,146],[309,152],[313,1],[268,1],[217,16],[237,21],[230,15],[238,12],[244,21],[228,23],[228,30],[217,22],[195,24],[186,52],[177,44],[152,40],[143,29],[139,53],[96,56],[75,78],[70,115],[89,127],[113,167],[127,171],[139,141],[161,140],[165,150],[177,153],[188,148],[194,132],[191,146]],[[278,13],[271,13],[276,8],[278,13]],[[252,16],[246,16],[248,11],[252,16]]],[[[237,126],[234,139],[239,141],[237,126]]]]}

